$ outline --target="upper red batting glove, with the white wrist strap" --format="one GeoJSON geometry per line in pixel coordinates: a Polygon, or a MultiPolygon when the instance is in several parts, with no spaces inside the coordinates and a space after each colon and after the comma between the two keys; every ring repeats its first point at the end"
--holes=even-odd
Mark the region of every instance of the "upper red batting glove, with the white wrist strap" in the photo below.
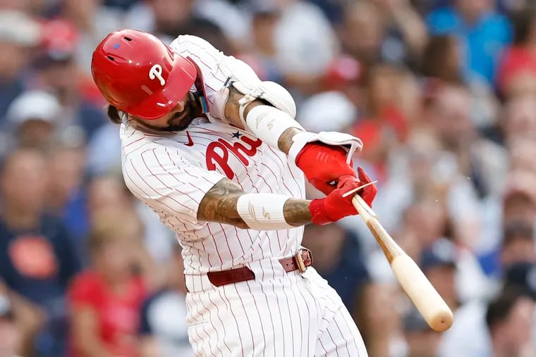
{"type": "Polygon", "coordinates": [[[329,194],[341,176],[353,176],[353,165],[346,163],[347,151],[341,146],[331,146],[321,142],[308,143],[296,155],[296,165],[303,171],[307,181],[316,189],[329,194]]]}

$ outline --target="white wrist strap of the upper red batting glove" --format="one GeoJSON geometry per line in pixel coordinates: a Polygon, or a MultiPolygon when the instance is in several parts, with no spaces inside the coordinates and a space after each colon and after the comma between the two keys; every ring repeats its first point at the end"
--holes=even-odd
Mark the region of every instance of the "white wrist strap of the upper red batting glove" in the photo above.
{"type": "Polygon", "coordinates": [[[361,139],[344,132],[299,132],[294,135],[292,141],[291,149],[288,150],[288,158],[293,163],[296,163],[296,156],[303,149],[303,146],[310,142],[322,142],[332,146],[343,146],[348,150],[346,163],[350,163],[355,151],[361,151],[363,149],[361,139]]]}

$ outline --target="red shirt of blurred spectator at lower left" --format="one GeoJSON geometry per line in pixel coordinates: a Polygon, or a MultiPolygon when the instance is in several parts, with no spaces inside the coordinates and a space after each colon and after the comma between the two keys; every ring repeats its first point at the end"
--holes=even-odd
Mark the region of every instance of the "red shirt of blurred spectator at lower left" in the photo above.
{"type": "MultiPolygon", "coordinates": [[[[97,273],[81,273],[68,292],[71,308],[90,306],[97,314],[101,341],[118,357],[138,356],[136,334],[140,308],[145,298],[142,280],[133,277],[126,289],[118,294],[110,289],[97,273]]],[[[71,357],[80,353],[71,349],[71,357]]]]}

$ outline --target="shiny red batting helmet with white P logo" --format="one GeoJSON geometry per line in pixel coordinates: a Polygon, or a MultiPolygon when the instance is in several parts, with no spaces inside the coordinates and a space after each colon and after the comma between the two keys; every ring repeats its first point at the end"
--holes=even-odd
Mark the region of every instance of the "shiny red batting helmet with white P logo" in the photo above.
{"type": "Polygon", "coordinates": [[[112,32],[93,51],[93,80],[106,100],[143,119],[169,113],[195,82],[188,59],[146,32],[112,32]]]}

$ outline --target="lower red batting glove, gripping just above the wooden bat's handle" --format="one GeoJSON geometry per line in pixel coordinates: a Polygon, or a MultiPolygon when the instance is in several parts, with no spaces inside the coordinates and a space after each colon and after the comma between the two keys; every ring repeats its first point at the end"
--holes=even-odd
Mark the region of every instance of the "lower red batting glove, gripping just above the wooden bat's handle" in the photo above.
{"type": "MultiPolygon", "coordinates": [[[[311,221],[315,225],[327,225],[328,223],[336,222],[348,215],[357,215],[358,211],[352,204],[353,194],[343,197],[343,194],[350,192],[353,189],[360,187],[370,181],[362,168],[358,168],[360,181],[357,178],[346,175],[339,177],[339,184],[330,194],[323,199],[313,199],[309,205],[311,213],[311,221]]],[[[367,204],[372,205],[374,196],[376,196],[377,188],[374,184],[360,190],[358,194],[363,197],[367,204]]]]}

